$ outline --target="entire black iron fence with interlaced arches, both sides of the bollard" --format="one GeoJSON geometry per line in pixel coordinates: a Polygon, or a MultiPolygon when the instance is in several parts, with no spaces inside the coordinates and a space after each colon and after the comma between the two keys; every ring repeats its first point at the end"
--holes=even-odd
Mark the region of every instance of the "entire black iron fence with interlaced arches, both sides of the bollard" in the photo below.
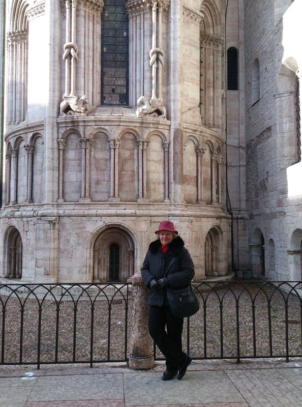
{"type": "MultiPolygon", "coordinates": [[[[302,357],[302,281],[193,285],[200,310],[183,344],[194,359],[302,357]]],[[[0,307],[0,364],[128,360],[131,283],[0,284],[0,307]]]]}

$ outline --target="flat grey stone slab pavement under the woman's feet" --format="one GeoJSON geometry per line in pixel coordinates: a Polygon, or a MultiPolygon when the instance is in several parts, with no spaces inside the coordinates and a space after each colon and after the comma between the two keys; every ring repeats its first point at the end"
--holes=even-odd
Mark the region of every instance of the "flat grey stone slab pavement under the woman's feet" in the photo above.
{"type": "Polygon", "coordinates": [[[0,367],[5,407],[301,407],[302,359],[193,361],[183,380],[163,382],[164,365],[124,363],[0,367]]]}

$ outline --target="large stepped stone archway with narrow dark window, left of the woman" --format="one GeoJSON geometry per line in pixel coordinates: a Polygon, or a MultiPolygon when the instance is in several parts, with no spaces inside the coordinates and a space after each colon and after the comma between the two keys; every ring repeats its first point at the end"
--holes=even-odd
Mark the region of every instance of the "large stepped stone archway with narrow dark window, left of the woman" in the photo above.
{"type": "Polygon", "coordinates": [[[94,244],[94,282],[125,282],[134,272],[134,244],[123,229],[109,227],[94,244]]]}

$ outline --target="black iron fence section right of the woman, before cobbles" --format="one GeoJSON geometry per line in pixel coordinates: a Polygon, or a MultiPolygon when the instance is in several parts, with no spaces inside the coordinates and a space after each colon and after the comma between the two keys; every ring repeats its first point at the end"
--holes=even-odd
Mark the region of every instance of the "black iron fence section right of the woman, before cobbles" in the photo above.
{"type": "Polygon", "coordinates": [[[193,285],[200,310],[186,318],[183,343],[194,359],[302,357],[301,281],[193,285]]]}

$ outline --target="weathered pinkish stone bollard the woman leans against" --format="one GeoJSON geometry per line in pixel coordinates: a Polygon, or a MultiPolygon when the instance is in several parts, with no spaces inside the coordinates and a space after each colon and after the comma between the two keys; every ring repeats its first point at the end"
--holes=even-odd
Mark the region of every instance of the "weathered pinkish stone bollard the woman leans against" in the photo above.
{"type": "Polygon", "coordinates": [[[148,291],[140,273],[132,277],[132,326],[129,367],[145,370],[154,366],[153,341],[148,331],[148,291]]]}

